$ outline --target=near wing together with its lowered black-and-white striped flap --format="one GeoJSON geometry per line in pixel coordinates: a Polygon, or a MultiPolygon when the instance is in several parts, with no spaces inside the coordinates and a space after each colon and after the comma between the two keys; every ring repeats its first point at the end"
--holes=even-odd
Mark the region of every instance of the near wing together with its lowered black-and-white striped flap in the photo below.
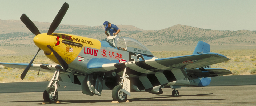
{"type": "MultiPolygon", "coordinates": [[[[169,82],[186,78],[187,73],[185,70],[187,69],[196,69],[230,59],[217,53],[203,53],[143,61],[129,61],[126,63],[111,63],[110,61],[103,62],[98,60],[90,61],[91,63],[87,64],[87,68],[98,71],[112,71],[116,69],[120,71],[123,67],[127,67],[126,73],[129,73],[131,82],[139,90],[150,90],[166,85],[169,82]]],[[[211,69],[209,71],[217,70],[211,69]]],[[[198,75],[201,73],[198,73],[198,75]]],[[[122,75],[122,70],[117,74],[122,75]]],[[[204,73],[201,76],[210,76],[209,74],[212,75],[212,73],[204,73]]]]}

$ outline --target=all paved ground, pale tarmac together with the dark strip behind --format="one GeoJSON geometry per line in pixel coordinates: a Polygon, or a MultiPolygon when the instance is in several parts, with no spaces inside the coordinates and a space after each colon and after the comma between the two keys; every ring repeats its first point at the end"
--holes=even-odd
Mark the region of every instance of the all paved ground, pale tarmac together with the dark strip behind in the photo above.
{"type": "Polygon", "coordinates": [[[35,89],[43,86],[44,90],[48,82],[0,83],[0,105],[256,105],[255,79],[256,75],[212,77],[209,86],[177,89],[179,97],[171,96],[173,89],[168,88],[163,88],[161,95],[131,92],[127,98],[129,103],[111,103],[111,90],[103,90],[101,96],[89,96],[82,94],[81,85],[79,88],[62,83],[62,87],[67,87],[58,89],[60,103],[42,104],[43,91],[35,89]],[[23,90],[24,87],[30,89],[23,90]]]}

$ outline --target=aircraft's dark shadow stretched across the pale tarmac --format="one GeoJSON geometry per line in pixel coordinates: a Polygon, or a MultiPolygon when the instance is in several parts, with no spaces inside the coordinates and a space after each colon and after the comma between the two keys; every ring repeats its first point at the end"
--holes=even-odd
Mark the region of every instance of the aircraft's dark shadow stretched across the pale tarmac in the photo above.
{"type": "MultiPolygon", "coordinates": [[[[222,96],[222,95],[211,95],[211,94],[180,95],[179,97],[182,97],[182,96],[222,96]]],[[[179,98],[179,97],[173,97],[173,96],[170,96],[170,95],[159,95],[158,97],[132,98],[132,99],[127,99],[127,100],[129,100],[130,102],[133,102],[133,101],[226,100],[226,99],[174,99],[174,98],[179,98]],[[163,96],[163,97],[160,97],[160,96],[163,96]],[[171,98],[171,99],[160,99],[160,98],[171,98]]],[[[70,104],[70,103],[112,102],[113,100],[111,99],[111,100],[58,100],[58,101],[60,102],[58,104],[70,104]]],[[[11,102],[41,102],[41,103],[43,103],[44,101],[41,100],[41,101],[11,101],[11,102]]],[[[41,103],[38,103],[38,104],[41,104],[41,103]]]]}

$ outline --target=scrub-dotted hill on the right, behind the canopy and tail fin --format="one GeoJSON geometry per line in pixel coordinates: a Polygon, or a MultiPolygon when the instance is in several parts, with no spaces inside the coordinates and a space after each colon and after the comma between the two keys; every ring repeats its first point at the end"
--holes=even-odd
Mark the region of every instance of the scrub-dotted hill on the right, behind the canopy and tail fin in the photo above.
{"type": "Polygon", "coordinates": [[[191,45],[199,40],[209,44],[255,43],[256,32],[249,30],[219,31],[186,25],[174,25],[162,30],[148,30],[127,35],[144,45],[191,45]]]}

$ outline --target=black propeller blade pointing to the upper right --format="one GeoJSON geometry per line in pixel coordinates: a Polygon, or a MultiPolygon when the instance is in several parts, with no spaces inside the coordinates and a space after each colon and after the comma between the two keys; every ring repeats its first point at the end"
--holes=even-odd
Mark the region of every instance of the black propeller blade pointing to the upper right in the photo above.
{"type": "Polygon", "coordinates": [[[56,15],[56,17],[54,18],[53,22],[51,23],[51,26],[48,30],[47,35],[51,35],[59,26],[59,24],[61,23],[61,20],[63,19],[64,15],[67,12],[67,9],[69,8],[69,4],[67,4],[66,2],[62,5],[61,9],[59,10],[58,14],[56,15]]]}

